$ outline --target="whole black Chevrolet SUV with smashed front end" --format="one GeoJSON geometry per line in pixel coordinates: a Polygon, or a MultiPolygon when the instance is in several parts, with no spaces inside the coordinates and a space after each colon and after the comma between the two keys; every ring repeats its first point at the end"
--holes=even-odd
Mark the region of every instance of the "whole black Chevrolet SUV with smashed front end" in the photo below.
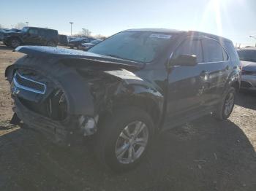
{"type": "Polygon", "coordinates": [[[88,52],[18,47],[6,69],[20,120],[53,140],[91,136],[115,171],[140,162],[152,138],[184,122],[230,116],[240,61],[229,39],[197,31],[133,29],[88,52]]]}

